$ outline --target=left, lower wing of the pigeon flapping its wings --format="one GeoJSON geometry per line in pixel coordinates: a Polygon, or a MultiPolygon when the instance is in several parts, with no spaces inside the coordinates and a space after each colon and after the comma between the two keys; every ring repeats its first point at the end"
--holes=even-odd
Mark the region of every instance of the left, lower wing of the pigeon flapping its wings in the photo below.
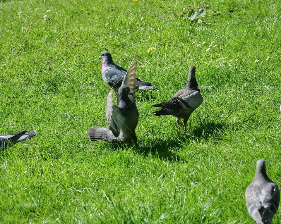
{"type": "Polygon", "coordinates": [[[105,113],[109,130],[112,131],[115,137],[119,136],[119,128],[117,117],[120,114],[120,109],[113,104],[114,97],[112,97],[113,90],[109,92],[106,98],[105,113]]]}

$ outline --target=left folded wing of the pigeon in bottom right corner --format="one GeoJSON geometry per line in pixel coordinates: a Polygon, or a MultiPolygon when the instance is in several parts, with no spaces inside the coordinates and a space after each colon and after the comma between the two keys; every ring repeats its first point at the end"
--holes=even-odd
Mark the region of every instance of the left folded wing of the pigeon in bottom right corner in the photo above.
{"type": "Polygon", "coordinates": [[[261,209],[261,202],[259,197],[261,195],[261,188],[258,185],[250,184],[245,192],[245,199],[247,209],[250,216],[258,223],[263,223],[259,210],[261,209]]]}

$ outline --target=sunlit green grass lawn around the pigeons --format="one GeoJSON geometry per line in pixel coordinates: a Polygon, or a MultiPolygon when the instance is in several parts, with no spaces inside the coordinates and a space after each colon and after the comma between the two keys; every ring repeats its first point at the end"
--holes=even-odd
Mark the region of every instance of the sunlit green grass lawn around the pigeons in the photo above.
{"type": "Polygon", "coordinates": [[[281,187],[280,7],[0,1],[0,133],[37,130],[0,153],[0,223],[254,223],[244,192],[256,160],[281,187]],[[188,7],[207,8],[203,23],[188,7]],[[107,127],[105,50],[124,68],[138,50],[138,77],[159,90],[137,92],[139,147],[88,139],[107,127]],[[150,105],[183,88],[191,65],[204,101],[185,133],[150,105]]]}

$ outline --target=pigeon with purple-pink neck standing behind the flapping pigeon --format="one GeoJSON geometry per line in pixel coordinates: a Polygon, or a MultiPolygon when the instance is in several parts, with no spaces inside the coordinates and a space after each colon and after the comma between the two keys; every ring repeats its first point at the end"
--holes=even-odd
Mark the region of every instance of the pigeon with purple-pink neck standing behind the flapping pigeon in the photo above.
{"type": "MultiPolygon", "coordinates": [[[[112,61],[111,54],[107,51],[103,51],[100,54],[99,59],[100,58],[102,58],[102,79],[107,85],[113,87],[113,89],[117,92],[122,84],[127,70],[115,65],[112,61]]],[[[136,77],[136,89],[150,90],[153,87],[155,86],[151,85],[151,83],[145,82],[136,77]]]]}

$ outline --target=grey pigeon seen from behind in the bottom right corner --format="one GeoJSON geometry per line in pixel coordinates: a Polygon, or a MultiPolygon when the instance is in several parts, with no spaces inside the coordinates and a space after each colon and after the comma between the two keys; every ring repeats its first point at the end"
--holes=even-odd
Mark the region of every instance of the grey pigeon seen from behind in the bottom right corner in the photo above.
{"type": "Polygon", "coordinates": [[[248,212],[257,224],[271,222],[279,206],[280,190],[268,178],[263,159],[257,161],[256,175],[246,189],[245,198],[248,212]]]}

